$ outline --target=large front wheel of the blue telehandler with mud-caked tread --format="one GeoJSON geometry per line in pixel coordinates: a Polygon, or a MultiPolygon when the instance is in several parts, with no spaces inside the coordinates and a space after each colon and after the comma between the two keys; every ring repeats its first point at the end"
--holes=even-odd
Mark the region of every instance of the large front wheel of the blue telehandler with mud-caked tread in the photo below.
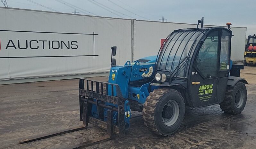
{"type": "MultiPolygon", "coordinates": [[[[184,119],[185,114],[185,103],[184,98],[181,93],[174,89],[155,89],[153,92],[150,92],[149,96],[146,98],[146,102],[144,103],[143,108],[143,120],[144,124],[152,130],[154,133],[162,136],[170,136],[171,134],[177,131],[184,119]],[[172,105],[167,110],[166,104],[175,103],[178,106],[172,105]],[[176,107],[176,108],[175,108],[176,107]],[[165,108],[165,110],[164,110],[165,108]],[[179,110],[179,112],[174,112],[175,109],[179,110]],[[170,118],[163,118],[162,112],[165,111],[165,114],[170,115],[170,118]],[[172,112],[169,112],[172,111],[172,112]],[[176,113],[176,114],[175,114],[176,113]],[[177,114],[178,113],[178,114],[177,114]],[[174,118],[173,118],[174,117],[174,118]],[[171,121],[169,126],[167,126],[164,120],[171,121]]],[[[166,122],[167,123],[167,122],[166,122]]]]}

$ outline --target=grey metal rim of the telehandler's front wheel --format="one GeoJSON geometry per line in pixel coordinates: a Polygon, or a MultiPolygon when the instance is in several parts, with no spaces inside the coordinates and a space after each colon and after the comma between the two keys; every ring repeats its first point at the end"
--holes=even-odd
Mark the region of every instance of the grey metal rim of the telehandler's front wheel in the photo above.
{"type": "Polygon", "coordinates": [[[179,117],[180,107],[175,100],[166,102],[162,110],[162,120],[166,126],[172,126],[179,117]]]}

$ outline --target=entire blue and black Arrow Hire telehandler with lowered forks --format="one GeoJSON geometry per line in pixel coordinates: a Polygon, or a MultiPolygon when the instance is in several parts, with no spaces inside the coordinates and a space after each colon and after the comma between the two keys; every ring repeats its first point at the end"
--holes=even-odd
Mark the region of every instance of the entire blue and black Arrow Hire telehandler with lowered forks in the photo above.
{"type": "MultiPolygon", "coordinates": [[[[102,142],[114,133],[123,137],[130,127],[131,110],[142,112],[144,124],[162,136],[179,129],[185,106],[220,104],[226,113],[241,113],[248,83],[239,77],[243,65],[232,66],[230,60],[230,25],[203,28],[202,18],[197,28],[178,29],[168,35],[157,56],[127,61],[124,66],[115,66],[112,59],[108,82],[85,78],[79,81],[83,127],[21,143],[85,129],[88,123],[106,129],[107,136],[69,148],[102,142]]],[[[115,56],[116,46],[111,49],[115,56]]]]}

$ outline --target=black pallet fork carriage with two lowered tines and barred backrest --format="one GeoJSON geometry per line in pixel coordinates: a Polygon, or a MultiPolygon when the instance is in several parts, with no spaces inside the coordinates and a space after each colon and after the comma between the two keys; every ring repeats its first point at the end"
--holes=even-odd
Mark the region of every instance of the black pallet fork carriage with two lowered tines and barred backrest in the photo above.
{"type": "Polygon", "coordinates": [[[94,145],[100,142],[104,142],[112,139],[113,134],[124,137],[125,135],[125,122],[124,122],[124,101],[122,92],[118,84],[108,82],[98,82],[89,79],[79,80],[79,105],[80,105],[80,121],[83,121],[83,125],[75,128],[64,129],[56,131],[50,134],[43,134],[35,137],[27,138],[20,141],[19,144],[33,142],[49,137],[63,135],[66,133],[79,131],[88,128],[88,123],[98,126],[99,128],[107,130],[107,135],[104,137],[96,138],[87,142],[83,142],[77,145],[66,147],[66,149],[83,148],[90,145],[94,145]],[[86,82],[86,89],[85,89],[86,82]],[[90,83],[90,85],[89,85],[90,83]],[[94,86],[96,85],[96,86],[94,86]],[[104,86],[106,91],[103,91],[104,86]],[[114,91],[115,90],[115,91],[114,91]],[[110,103],[117,106],[105,105],[104,103],[110,103]],[[94,118],[91,115],[92,105],[97,106],[98,117],[94,118]],[[107,109],[107,122],[104,121],[104,109],[107,109]],[[113,124],[113,112],[118,113],[118,125],[113,124]]]}

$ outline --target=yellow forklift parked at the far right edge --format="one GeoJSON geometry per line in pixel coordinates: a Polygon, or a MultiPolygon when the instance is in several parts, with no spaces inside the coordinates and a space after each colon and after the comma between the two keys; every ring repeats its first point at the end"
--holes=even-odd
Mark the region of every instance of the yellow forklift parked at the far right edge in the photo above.
{"type": "Polygon", "coordinates": [[[256,64],[256,35],[249,35],[245,46],[243,65],[256,64]]]}

